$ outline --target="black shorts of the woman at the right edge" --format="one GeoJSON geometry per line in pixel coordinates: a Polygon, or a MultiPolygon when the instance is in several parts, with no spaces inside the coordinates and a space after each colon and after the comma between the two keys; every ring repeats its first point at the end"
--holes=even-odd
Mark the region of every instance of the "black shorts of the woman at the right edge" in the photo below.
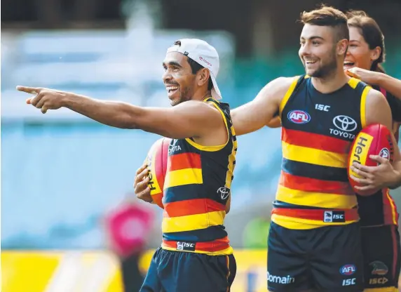
{"type": "Polygon", "coordinates": [[[395,225],[362,227],[361,235],[365,288],[374,291],[370,289],[394,287],[393,291],[398,291],[400,275],[398,227],[395,225]]]}

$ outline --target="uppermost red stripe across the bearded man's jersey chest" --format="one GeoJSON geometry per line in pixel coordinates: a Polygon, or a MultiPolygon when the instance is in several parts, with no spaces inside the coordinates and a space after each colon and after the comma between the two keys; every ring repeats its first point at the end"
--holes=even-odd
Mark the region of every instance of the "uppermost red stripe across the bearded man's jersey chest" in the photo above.
{"type": "Polygon", "coordinates": [[[348,141],[326,135],[290,130],[288,128],[283,128],[281,140],[291,145],[325,150],[339,154],[348,154],[351,148],[351,142],[348,141]]]}

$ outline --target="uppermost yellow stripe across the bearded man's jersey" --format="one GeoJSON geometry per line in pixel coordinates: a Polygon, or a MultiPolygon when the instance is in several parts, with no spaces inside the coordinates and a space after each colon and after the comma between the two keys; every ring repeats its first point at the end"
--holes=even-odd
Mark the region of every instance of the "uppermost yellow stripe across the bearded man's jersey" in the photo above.
{"type": "Polygon", "coordinates": [[[339,168],[346,168],[347,166],[348,154],[338,154],[324,150],[291,145],[284,141],[282,142],[282,145],[283,157],[285,159],[320,166],[339,168]]]}

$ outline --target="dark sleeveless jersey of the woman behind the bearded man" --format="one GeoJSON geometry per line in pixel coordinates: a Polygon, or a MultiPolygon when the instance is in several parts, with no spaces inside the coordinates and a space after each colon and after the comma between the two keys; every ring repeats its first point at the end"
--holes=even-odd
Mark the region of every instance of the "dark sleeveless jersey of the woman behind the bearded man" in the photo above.
{"type": "MultiPolygon", "coordinates": [[[[395,98],[385,89],[377,86],[373,87],[377,91],[381,91],[390,105],[393,115],[393,134],[395,140],[398,141],[398,131],[401,121],[401,100],[395,98]]],[[[388,188],[376,192],[372,196],[358,198],[358,213],[360,215],[360,225],[362,227],[381,226],[381,225],[398,225],[398,211],[394,199],[390,196],[388,188]]]]}

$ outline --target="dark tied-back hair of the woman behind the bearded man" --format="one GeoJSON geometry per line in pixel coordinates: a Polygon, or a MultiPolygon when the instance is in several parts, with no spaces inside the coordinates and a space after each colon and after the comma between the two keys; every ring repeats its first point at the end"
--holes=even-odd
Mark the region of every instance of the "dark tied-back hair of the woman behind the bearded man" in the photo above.
{"type": "Polygon", "coordinates": [[[373,50],[378,46],[381,48],[379,58],[374,60],[370,69],[372,71],[385,73],[380,64],[386,60],[386,47],[384,46],[383,32],[381,32],[376,20],[369,17],[365,11],[348,11],[346,15],[348,17],[348,26],[359,29],[359,32],[367,42],[369,49],[373,50]]]}

